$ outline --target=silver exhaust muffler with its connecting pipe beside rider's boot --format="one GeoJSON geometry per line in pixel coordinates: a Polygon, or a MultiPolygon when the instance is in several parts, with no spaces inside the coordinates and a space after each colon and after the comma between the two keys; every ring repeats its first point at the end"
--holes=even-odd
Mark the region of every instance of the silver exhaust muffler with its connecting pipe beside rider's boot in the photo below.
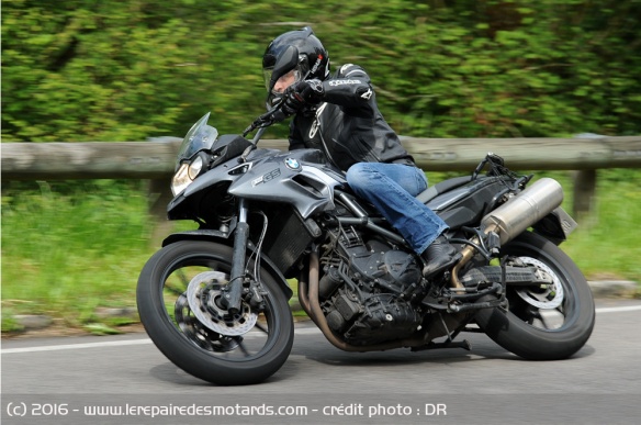
{"type": "MultiPolygon", "coordinates": [[[[544,177],[485,215],[481,220],[481,228],[485,235],[496,233],[504,245],[550,214],[561,202],[563,188],[556,180],[544,177]]],[[[479,243],[477,238],[473,242],[479,243]]],[[[461,260],[452,269],[453,288],[464,288],[459,280],[459,270],[474,257],[476,249],[466,246],[461,254],[461,260]]]]}

